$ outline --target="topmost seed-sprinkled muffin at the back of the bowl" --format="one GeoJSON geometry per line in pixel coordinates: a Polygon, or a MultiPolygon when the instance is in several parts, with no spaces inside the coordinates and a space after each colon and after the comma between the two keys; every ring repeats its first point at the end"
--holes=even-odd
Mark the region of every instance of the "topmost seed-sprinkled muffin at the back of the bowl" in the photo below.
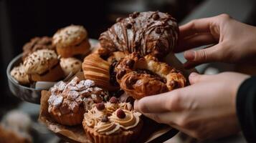
{"type": "Polygon", "coordinates": [[[71,25],[59,29],[52,37],[57,54],[63,58],[77,54],[85,55],[90,51],[87,31],[83,26],[71,25]]]}

